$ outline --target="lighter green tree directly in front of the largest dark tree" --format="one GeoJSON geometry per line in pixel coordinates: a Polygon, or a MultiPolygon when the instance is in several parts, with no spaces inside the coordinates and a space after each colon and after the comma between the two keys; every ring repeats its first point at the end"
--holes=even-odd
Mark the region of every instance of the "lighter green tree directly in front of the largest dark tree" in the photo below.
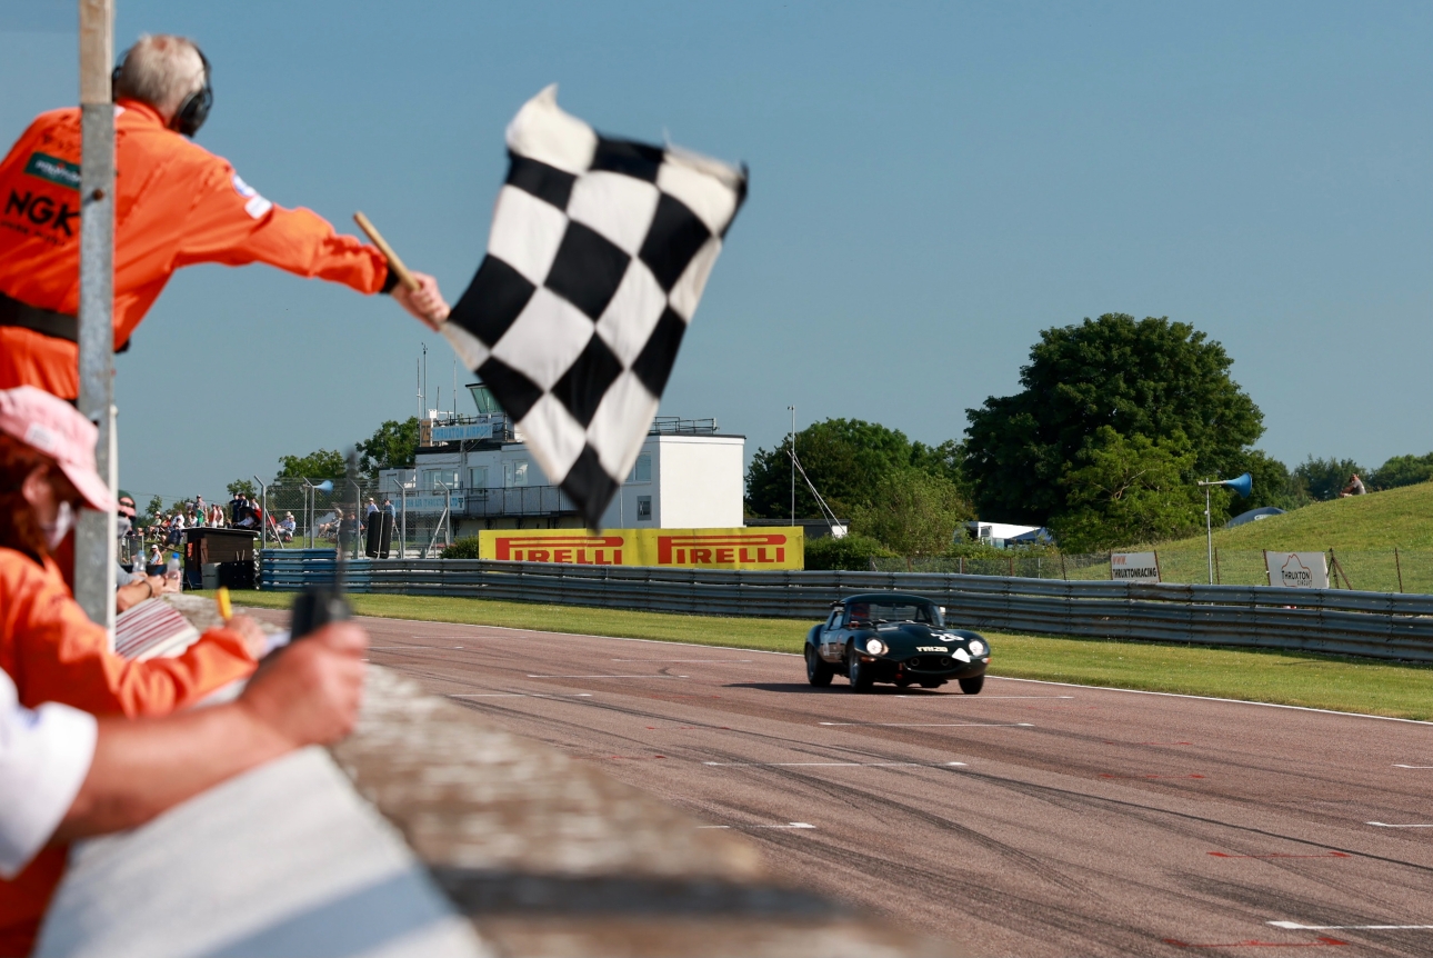
{"type": "Polygon", "coordinates": [[[1204,496],[1185,479],[1192,468],[1179,433],[1156,443],[1101,426],[1065,470],[1066,511],[1052,521],[1060,548],[1093,552],[1195,532],[1204,496]]]}

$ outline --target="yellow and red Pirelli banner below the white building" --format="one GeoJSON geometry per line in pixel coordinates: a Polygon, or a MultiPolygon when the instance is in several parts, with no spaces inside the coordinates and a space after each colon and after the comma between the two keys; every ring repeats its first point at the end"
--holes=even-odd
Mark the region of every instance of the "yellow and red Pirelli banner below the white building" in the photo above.
{"type": "Polygon", "coordinates": [[[800,526],[755,529],[486,529],[479,556],[507,562],[658,565],[684,569],[800,569],[800,526]]]}

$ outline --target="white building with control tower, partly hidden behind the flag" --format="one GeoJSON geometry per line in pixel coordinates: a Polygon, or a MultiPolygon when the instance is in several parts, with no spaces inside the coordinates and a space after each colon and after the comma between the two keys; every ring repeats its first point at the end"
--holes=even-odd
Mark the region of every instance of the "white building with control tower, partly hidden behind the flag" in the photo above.
{"type": "MultiPolygon", "coordinates": [[[[480,410],[497,409],[481,384],[480,410]]],[[[414,469],[380,473],[381,493],[424,523],[446,509],[454,536],[480,529],[582,526],[576,506],[543,476],[512,420],[499,412],[421,423],[414,469]]],[[[745,436],[722,435],[714,419],[658,417],[632,472],[602,516],[612,529],[738,528],[742,525],[745,436]]]]}

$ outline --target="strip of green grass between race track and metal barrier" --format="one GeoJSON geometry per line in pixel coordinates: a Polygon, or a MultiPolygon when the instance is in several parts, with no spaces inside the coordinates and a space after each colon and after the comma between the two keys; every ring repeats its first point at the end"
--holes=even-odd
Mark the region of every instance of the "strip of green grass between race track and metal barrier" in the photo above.
{"type": "MultiPolygon", "coordinates": [[[[238,605],[262,608],[288,608],[294,601],[292,594],[285,592],[242,592],[235,598],[238,605]]],[[[421,595],[351,595],[350,601],[360,615],[380,618],[655,638],[777,653],[800,653],[813,624],[790,618],[708,618],[421,595]]],[[[992,675],[1433,718],[1433,667],[1314,653],[1002,632],[989,632],[989,637],[995,648],[992,675]]],[[[798,663],[792,663],[791,675],[792,681],[802,678],[798,663]]]]}

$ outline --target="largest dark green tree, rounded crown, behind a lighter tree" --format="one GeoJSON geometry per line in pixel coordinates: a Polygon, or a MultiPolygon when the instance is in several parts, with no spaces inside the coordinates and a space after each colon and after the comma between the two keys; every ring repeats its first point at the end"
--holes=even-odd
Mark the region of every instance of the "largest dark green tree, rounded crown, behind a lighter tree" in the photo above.
{"type": "Polygon", "coordinates": [[[1045,330],[1023,389],[966,410],[963,465],[980,515],[1045,525],[1068,513],[1066,475],[1102,426],[1155,443],[1182,435],[1184,482],[1238,475],[1264,426],[1231,364],[1222,346],[1168,318],[1106,313],[1045,330]]]}

